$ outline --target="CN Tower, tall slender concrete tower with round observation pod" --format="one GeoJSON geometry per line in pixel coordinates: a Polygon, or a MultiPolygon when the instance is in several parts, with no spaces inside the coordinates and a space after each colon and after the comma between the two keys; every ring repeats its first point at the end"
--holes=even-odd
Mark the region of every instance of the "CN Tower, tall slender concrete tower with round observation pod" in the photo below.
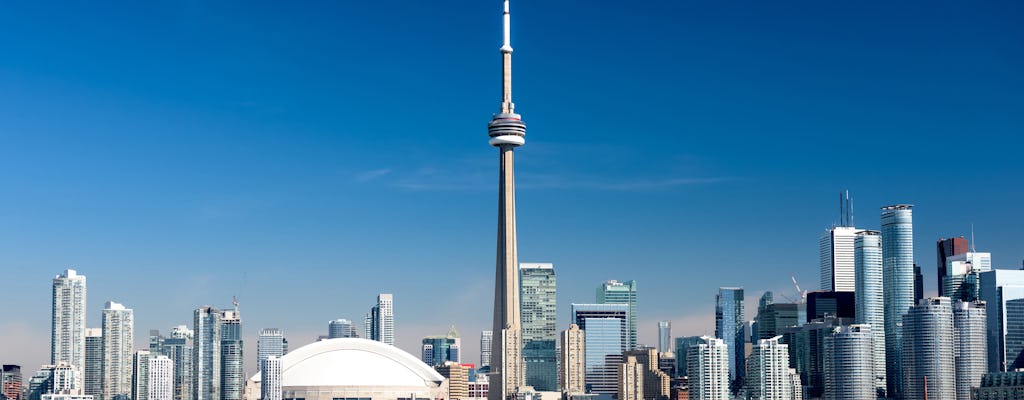
{"type": "Polygon", "coordinates": [[[526,142],[526,124],[512,103],[512,45],[509,43],[509,0],[502,15],[502,108],[487,124],[490,145],[498,147],[498,262],[495,269],[495,350],[490,353],[488,400],[515,397],[524,384],[522,327],[519,323],[519,260],[515,240],[515,179],[513,150],[526,142]]]}

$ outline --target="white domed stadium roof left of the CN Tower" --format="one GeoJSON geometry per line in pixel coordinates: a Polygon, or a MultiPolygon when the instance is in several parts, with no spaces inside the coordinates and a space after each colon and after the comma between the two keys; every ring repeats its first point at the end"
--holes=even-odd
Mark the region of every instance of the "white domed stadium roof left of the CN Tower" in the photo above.
{"type": "MultiPolygon", "coordinates": [[[[281,357],[281,386],[286,392],[313,388],[371,392],[436,391],[444,376],[401,349],[366,339],[328,339],[300,347],[281,357]]],[[[260,382],[259,373],[252,381],[260,382]]],[[[445,388],[446,389],[446,388],[445,388]]],[[[300,397],[298,393],[295,397],[300,397]]],[[[375,396],[376,398],[376,396],[375,396]]]]}

